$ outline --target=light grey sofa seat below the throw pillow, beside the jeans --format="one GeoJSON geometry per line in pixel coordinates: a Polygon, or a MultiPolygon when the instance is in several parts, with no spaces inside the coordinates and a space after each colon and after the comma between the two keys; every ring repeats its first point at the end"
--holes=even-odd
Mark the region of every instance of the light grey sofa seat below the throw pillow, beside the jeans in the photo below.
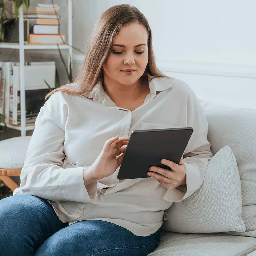
{"type": "Polygon", "coordinates": [[[162,231],[159,246],[148,256],[244,256],[254,250],[256,238],[253,237],[162,231]]]}

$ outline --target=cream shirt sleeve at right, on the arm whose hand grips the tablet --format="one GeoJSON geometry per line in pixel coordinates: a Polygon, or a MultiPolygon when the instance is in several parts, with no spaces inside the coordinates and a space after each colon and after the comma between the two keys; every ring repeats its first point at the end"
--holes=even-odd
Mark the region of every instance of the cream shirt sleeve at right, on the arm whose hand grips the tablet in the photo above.
{"type": "Polygon", "coordinates": [[[204,110],[190,88],[187,98],[187,127],[194,129],[183,156],[187,184],[168,189],[164,199],[169,202],[180,202],[201,187],[209,160],[213,156],[210,142],[207,140],[208,122],[204,110]]]}

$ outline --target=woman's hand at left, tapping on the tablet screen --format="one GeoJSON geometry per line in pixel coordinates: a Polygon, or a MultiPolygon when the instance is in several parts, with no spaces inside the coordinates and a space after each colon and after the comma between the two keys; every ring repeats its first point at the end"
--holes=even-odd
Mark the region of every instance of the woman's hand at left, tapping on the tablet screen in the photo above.
{"type": "Polygon", "coordinates": [[[116,137],[107,140],[100,155],[91,166],[84,168],[84,184],[97,181],[113,174],[122,163],[130,137],[116,137]],[[121,155],[120,155],[121,154],[121,155]],[[120,156],[118,156],[120,155],[120,156]],[[118,156],[118,157],[117,157],[118,156]]]}

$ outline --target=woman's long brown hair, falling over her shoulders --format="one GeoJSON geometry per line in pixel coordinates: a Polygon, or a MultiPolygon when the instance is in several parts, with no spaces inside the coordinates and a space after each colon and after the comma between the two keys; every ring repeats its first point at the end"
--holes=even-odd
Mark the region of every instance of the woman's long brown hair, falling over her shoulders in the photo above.
{"type": "Polygon", "coordinates": [[[113,39],[122,26],[130,23],[139,23],[148,32],[148,64],[140,79],[144,80],[148,75],[167,77],[156,67],[152,46],[152,33],[147,19],[136,7],[129,4],[120,4],[110,7],[103,12],[94,25],[87,45],[84,66],[74,83],[65,84],[52,90],[46,95],[45,99],[56,91],[76,96],[91,91],[98,80],[103,78],[102,66],[108,58],[113,39]]]}

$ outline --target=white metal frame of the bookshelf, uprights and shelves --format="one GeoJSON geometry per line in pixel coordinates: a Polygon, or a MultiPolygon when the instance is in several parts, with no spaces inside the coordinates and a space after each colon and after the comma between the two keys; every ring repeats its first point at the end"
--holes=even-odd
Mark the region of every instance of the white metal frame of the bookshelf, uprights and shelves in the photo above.
{"type": "MultiPolygon", "coordinates": [[[[66,49],[69,52],[70,58],[68,58],[68,69],[70,66],[72,67],[73,60],[73,51],[72,51],[72,0],[68,0],[68,35],[66,44],[59,44],[60,49],[66,49]]],[[[21,125],[11,125],[6,124],[8,128],[19,130],[21,132],[21,136],[26,136],[26,131],[34,130],[34,125],[26,126],[26,101],[25,101],[25,75],[24,75],[24,67],[25,67],[25,50],[50,50],[55,49],[58,50],[57,44],[24,44],[24,24],[23,24],[24,16],[23,16],[23,7],[21,6],[19,9],[19,44],[15,43],[0,43],[0,48],[2,49],[18,49],[20,55],[20,117],[21,117],[21,125]]],[[[69,70],[68,70],[69,71],[69,70]]],[[[0,123],[1,126],[4,126],[4,123],[0,123]]]]}

